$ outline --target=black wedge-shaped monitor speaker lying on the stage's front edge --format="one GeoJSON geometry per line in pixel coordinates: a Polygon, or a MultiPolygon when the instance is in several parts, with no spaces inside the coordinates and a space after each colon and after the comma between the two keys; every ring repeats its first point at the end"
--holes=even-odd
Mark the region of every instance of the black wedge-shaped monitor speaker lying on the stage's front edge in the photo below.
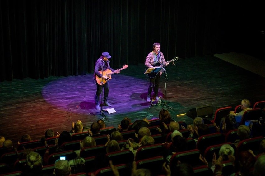
{"type": "Polygon", "coordinates": [[[213,115],[213,108],[212,105],[204,105],[196,108],[192,108],[188,110],[186,115],[192,119],[195,119],[195,117],[212,117],[213,115]]]}

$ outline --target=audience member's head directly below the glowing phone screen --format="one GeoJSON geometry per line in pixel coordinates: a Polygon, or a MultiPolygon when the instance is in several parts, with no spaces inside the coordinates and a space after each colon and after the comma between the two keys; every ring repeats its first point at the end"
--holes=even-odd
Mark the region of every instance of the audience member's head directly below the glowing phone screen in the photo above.
{"type": "Polygon", "coordinates": [[[57,160],[54,164],[53,174],[56,176],[67,176],[71,175],[71,167],[67,160],[57,160]]]}

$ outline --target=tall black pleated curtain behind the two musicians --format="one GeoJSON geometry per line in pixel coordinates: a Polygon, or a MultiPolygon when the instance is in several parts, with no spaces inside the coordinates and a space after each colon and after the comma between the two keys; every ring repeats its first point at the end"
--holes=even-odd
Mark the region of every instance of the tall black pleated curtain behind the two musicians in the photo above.
{"type": "Polygon", "coordinates": [[[84,75],[109,52],[113,68],[144,63],[159,42],[167,60],[245,52],[264,56],[259,2],[1,0],[0,80],[84,75]]]}

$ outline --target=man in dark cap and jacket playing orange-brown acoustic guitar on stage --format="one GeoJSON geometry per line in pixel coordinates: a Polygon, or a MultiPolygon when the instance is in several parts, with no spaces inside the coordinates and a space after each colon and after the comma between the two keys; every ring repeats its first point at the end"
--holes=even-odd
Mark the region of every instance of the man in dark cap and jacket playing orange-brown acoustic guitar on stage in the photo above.
{"type": "MultiPolygon", "coordinates": [[[[112,72],[116,71],[116,73],[119,73],[119,70],[114,70],[109,66],[109,59],[111,58],[111,56],[109,55],[108,52],[103,52],[102,56],[100,56],[100,58],[96,61],[95,63],[95,69],[94,69],[94,78],[97,75],[99,78],[102,79],[108,79],[107,76],[105,74],[103,74],[103,72],[107,69],[111,70],[112,72]],[[103,75],[102,75],[103,74],[103,75]]],[[[95,95],[95,104],[96,104],[96,109],[100,110],[100,94],[102,91],[102,85],[99,83],[97,84],[97,92],[95,95]]],[[[103,84],[103,88],[104,88],[104,98],[103,98],[103,105],[105,106],[111,106],[111,104],[109,104],[108,102],[108,95],[109,95],[109,81],[106,81],[103,84]]]]}

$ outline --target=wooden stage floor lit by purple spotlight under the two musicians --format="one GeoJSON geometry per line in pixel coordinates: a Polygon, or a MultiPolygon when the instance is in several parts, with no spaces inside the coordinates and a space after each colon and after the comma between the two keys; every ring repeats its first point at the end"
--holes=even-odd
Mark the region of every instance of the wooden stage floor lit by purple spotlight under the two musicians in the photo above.
{"type": "MultiPolygon", "coordinates": [[[[122,66],[121,66],[122,67],[122,66]]],[[[106,126],[117,127],[124,117],[132,121],[157,117],[164,108],[177,121],[191,124],[184,114],[194,107],[212,104],[213,110],[239,105],[242,99],[251,103],[265,100],[265,78],[214,56],[179,58],[166,67],[168,82],[160,79],[159,95],[167,106],[150,106],[146,102],[149,80],[145,65],[128,65],[109,80],[109,103],[116,111],[107,117],[106,126]],[[166,89],[165,89],[166,85],[166,89]]],[[[93,73],[83,76],[49,77],[45,79],[0,82],[0,135],[16,146],[23,134],[34,140],[47,129],[69,131],[71,123],[81,120],[85,128],[102,118],[95,109],[96,86],[93,73]]],[[[107,108],[103,106],[103,108],[107,108]]]]}

